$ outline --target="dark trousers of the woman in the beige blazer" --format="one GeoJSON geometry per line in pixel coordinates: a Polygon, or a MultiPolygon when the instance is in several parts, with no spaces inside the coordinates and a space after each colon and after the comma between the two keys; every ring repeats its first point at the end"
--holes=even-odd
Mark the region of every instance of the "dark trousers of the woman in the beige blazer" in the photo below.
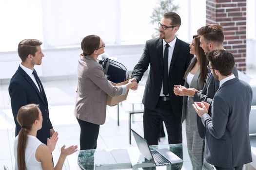
{"type": "Polygon", "coordinates": [[[80,150],[96,149],[99,125],[77,120],[80,126],[80,150]]]}

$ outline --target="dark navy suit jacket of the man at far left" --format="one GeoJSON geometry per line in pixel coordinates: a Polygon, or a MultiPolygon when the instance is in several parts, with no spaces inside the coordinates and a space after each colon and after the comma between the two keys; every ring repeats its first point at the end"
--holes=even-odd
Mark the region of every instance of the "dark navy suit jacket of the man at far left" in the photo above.
{"type": "Polygon", "coordinates": [[[11,78],[9,85],[9,95],[11,97],[11,106],[14,121],[16,124],[15,136],[20,132],[20,125],[16,120],[18,111],[21,106],[26,104],[39,104],[39,108],[42,112],[43,122],[42,128],[37,133],[37,138],[44,144],[47,143],[47,137],[50,137],[50,129],[53,128],[49,119],[49,109],[47,98],[42,87],[42,94],[39,92],[37,86],[29,75],[22,69],[18,68],[13,77],[11,78]]]}

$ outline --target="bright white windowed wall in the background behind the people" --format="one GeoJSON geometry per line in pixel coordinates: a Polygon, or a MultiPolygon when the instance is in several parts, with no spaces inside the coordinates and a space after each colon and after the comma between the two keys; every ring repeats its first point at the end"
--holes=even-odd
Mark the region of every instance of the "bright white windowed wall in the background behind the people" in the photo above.
{"type": "MultiPolygon", "coordinates": [[[[25,38],[43,41],[41,77],[76,75],[82,38],[98,34],[105,52],[128,70],[138,62],[146,40],[157,25],[150,16],[158,0],[0,0],[0,79],[10,79],[20,58],[18,43],[25,38]],[[58,68],[58,69],[57,69],[58,68]]],[[[205,25],[205,0],[174,0],[181,27],[177,37],[190,43],[205,25]]],[[[256,66],[256,1],[247,0],[247,58],[256,66]],[[249,17],[250,16],[250,17],[249,17]]]]}

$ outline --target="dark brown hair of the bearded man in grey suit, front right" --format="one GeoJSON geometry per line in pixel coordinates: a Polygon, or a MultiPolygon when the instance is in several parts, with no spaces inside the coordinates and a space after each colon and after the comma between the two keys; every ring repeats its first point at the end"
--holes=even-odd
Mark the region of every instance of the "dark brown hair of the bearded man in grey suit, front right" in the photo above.
{"type": "Polygon", "coordinates": [[[228,76],[235,66],[235,59],[231,52],[225,50],[214,50],[208,53],[207,58],[212,68],[217,69],[221,75],[228,76]]]}

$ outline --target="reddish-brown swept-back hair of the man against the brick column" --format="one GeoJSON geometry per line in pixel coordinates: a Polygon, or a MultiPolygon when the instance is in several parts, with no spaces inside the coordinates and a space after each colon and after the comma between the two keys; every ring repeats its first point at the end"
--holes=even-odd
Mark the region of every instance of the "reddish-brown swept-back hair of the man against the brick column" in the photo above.
{"type": "Polygon", "coordinates": [[[223,27],[218,24],[210,24],[197,30],[197,34],[203,36],[206,41],[212,41],[217,44],[223,44],[224,33],[223,27]]]}

